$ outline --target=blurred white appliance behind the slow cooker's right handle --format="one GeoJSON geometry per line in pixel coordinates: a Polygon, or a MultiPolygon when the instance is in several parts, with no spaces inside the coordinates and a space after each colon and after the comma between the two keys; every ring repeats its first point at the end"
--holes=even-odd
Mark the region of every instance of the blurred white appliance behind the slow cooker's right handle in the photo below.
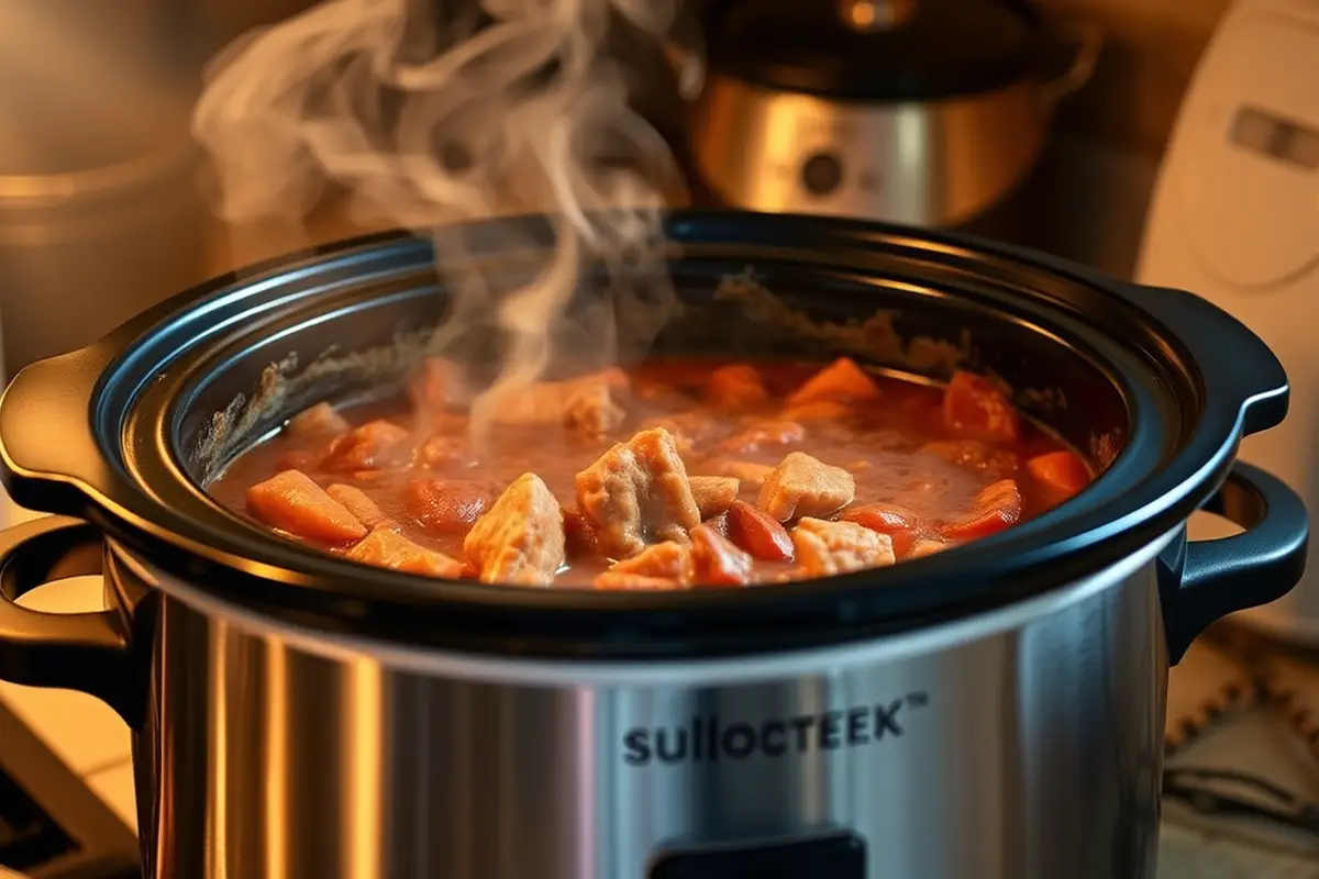
{"type": "MultiPolygon", "coordinates": [[[[1242,455],[1319,514],[1319,0],[1237,0],[1224,14],[1159,171],[1137,281],[1213,300],[1278,353],[1291,414],[1242,455]]],[[[1316,556],[1244,621],[1319,646],[1316,556]]]]}

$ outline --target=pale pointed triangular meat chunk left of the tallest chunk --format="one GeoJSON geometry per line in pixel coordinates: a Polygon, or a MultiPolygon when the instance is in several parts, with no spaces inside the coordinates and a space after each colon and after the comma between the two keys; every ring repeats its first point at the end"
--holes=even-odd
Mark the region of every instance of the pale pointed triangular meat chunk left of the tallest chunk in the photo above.
{"type": "Polygon", "coordinates": [[[541,477],[524,473],[463,540],[481,582],[547,586],[563,565],[563,514],[541,477]]]}

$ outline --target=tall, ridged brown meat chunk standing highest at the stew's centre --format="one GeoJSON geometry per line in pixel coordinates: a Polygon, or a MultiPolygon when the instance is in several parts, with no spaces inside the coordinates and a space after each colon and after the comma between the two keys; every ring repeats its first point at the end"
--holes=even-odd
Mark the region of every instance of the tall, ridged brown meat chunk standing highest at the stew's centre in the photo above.
{"type": "Polygon", "coordinates": [[[673,436],[641,431],[619,443],[576,476],[578,510],[590,522],[599,551],[627,559],[648,543],[687,542],[700,510],[673,436]]]}

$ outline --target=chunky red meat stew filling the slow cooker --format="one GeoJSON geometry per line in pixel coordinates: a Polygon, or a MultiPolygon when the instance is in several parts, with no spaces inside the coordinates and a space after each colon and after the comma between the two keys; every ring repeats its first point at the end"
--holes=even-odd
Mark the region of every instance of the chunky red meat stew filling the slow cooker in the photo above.
{"type": "Polygon", "coordinates": [[[214,497],[359,563],[529,586],[679,589],[820,577],[984,538],[1091,465],[993,381],[654,360],[500,398],[481,441],[460,373],[412,401],[294,416],[214,497]]]}

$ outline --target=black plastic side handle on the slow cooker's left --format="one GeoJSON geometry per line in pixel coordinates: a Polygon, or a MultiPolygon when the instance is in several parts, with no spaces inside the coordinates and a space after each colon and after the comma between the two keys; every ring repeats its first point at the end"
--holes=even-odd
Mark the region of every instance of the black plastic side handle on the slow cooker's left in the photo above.
{"type": "Polygon", "coordinates": [[[0,680],[77,689],[129,721],[132,663],[121,614],[51,614],[15,604],[42,584],[103,569],[103,538],[80,519],[45,517],[0,531],[0,680]]]}

